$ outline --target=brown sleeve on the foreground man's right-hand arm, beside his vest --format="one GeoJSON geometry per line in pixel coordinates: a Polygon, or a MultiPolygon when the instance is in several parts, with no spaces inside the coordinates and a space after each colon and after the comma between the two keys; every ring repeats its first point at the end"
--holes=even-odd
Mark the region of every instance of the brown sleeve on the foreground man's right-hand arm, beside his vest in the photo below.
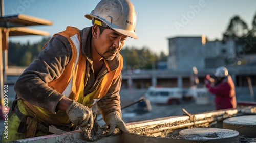
{"type": "Polygon", "coordinates": [[[118,114],[122,115],[119,95],[121,80],[122,76],[120,73],[113,81],[108,93],[106,93],[106,96],[97,102],[99,111],[101,112],[103,118],[111,112],[117,112],[118,114]]]}

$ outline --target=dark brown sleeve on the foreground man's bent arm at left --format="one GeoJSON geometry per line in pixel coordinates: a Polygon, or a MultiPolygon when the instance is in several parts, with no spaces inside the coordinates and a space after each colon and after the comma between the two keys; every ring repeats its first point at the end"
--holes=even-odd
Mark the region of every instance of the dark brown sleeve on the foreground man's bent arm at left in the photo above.
{"type": "Polygon", "coordinates": [[[14,90],[19,98],[32,105],[55,113],[58,102],[63,95],[48,86],[48,82],[57,79],[72,56],[68,39],[56,35],[19,76],[14,90]]]}

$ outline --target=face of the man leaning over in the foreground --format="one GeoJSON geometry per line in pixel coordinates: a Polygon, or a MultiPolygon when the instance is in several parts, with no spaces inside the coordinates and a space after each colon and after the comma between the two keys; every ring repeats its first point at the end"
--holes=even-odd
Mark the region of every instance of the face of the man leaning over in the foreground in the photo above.
{"type": "Polygon", "coordinates": [[[106,60],[112,60],[122,49],[127,36],[122,35],[114,30],[105,29],[100,34],[98,28],[94,42],[97,53],[106,60]]]}

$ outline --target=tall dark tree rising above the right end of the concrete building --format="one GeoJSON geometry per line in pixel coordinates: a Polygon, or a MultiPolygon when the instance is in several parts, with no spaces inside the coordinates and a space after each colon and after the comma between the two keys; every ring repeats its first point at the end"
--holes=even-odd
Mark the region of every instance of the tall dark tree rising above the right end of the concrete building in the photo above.
{"type": "Polygon", "coordinates": [[[223,40],[237,40],[238,38],[247,35],[248,32],[247,24],[239,16],[234,16],[230,20],[226,32],[223,34],[223,40]]]}

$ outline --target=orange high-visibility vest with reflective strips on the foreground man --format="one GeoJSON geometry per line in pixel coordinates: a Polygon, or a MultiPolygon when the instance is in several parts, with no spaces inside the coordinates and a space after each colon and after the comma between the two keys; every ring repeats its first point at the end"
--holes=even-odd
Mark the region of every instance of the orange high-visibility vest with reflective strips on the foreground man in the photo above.
{"type": "MultiPolygon", "coordinates": [[[[117,55],[120,60],[120,66],[113,71],[110,71],[108,62],[104,60],[109,72],[102,78],[100,85],[96,90],[84,96],[84,77],[86,74],[89,74],[89,71],[85,71],[86,58],[82,55],[80,30],[74,27],[67,27],[65,31],[54,34],[53,36],[55,35],[62,35],[68,39],[72,48],[72,57],[69,63],[65,66],[65,70],[63,71],[62,75],[58,79],[49,82],[48,86],[55,89],[57,92],[64,94],[66,97],[90,108],[95,101],[98,101],[104,97],[106,93],[108,93],[113,80],[121,73],[123,66],[122,56],[119,54],[117,55]]],[[[19,109],[20,107],[25,107],[26,110],[32,111],[35,114],[31,116],[38,118],[39,121],[59,126],[63,126],[65,124],[68,125],[70,123],[65,111],[58,111],[56,114],[53,114],[26,101],[22,102],[28,108],[18,101],[19,109]]]]}

